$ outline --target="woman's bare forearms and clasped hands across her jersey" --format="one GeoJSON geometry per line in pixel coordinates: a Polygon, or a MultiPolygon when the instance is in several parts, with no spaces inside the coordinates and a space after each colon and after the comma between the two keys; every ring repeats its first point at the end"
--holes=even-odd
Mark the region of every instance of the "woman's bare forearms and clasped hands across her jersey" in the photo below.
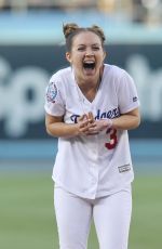
{"type": "Polygon", "coordinates": [[[91,113],[79,118],[78,123],[65,123],[64,117],[45,115],[46,132],[56,137],[73,137],[77,135],[95,135],[99,131],[112,127],[117,130],[135,129],[140,123],[139,109],[135,108],[118,118],[94,120],[91,113]]]}

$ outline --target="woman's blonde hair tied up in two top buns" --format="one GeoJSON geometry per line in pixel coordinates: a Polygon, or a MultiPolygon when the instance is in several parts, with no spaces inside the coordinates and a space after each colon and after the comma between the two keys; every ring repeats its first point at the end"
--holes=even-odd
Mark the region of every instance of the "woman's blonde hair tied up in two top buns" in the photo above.
{"type": "Polygon", "coordinates": [[[71,51],[73,37],[80,32],[83,32],[83,31],[91,31],[91,32],[94,32],[95,35],[97,35],[99,37],[99,39],[102,41],[102,45],[104,48],[104,42],[105,42],[106,38],[105,38],[104,31],[100,27],[98,27],[97,25],[93,25],[91,27],[84,28],[84,27],[79,27],[75,23],[69,23],[69,24],[63,25],[63,32],[65,36],[66,48],[67,48],[68,52],[71,51]]]}

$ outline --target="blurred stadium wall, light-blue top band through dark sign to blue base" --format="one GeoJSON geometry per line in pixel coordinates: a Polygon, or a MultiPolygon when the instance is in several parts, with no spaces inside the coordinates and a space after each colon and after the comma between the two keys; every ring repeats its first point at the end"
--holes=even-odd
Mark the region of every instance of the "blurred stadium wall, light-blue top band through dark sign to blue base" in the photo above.
{"type": "Polygon", "coordinates": [[[43,105],[51,75],[68,65],[62,34],[67,22],[104,28],[106,63],[125,68],[139,93],[141,124],[130,132],[133,157],[161,160],[162,26],[130,21],[132,12],[112,13],[111,4],[107,12],[97,6],[0,12],[0,162],[56,153],[57,141],[45,133],[43,105]]]}

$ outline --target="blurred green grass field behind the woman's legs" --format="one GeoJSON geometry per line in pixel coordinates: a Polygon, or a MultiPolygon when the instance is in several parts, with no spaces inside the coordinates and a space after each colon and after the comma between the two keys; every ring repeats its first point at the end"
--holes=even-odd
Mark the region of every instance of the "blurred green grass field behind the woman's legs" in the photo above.
{"type": "MultiPolygon", "coordinates": [[[[133,201],[129,249],[160,249],[162,175],[137,175],[133,201]]],[[[51,172],[0,173],[0,248],[58,249],[51,172]]],[[[94,226],[89,249],[98,249],[94,226]]]]}

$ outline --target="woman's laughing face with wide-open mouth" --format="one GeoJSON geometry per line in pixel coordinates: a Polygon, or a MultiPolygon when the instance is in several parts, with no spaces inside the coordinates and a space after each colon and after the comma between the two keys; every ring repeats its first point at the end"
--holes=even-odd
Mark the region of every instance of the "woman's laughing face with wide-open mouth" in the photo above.
{"type": "Polygon", "coordinates": [[[77,80],[98,80],[105,58],[99,37],[92,31],[82,31],[73,37],[71,52],[66,53],[77,80]]]}

